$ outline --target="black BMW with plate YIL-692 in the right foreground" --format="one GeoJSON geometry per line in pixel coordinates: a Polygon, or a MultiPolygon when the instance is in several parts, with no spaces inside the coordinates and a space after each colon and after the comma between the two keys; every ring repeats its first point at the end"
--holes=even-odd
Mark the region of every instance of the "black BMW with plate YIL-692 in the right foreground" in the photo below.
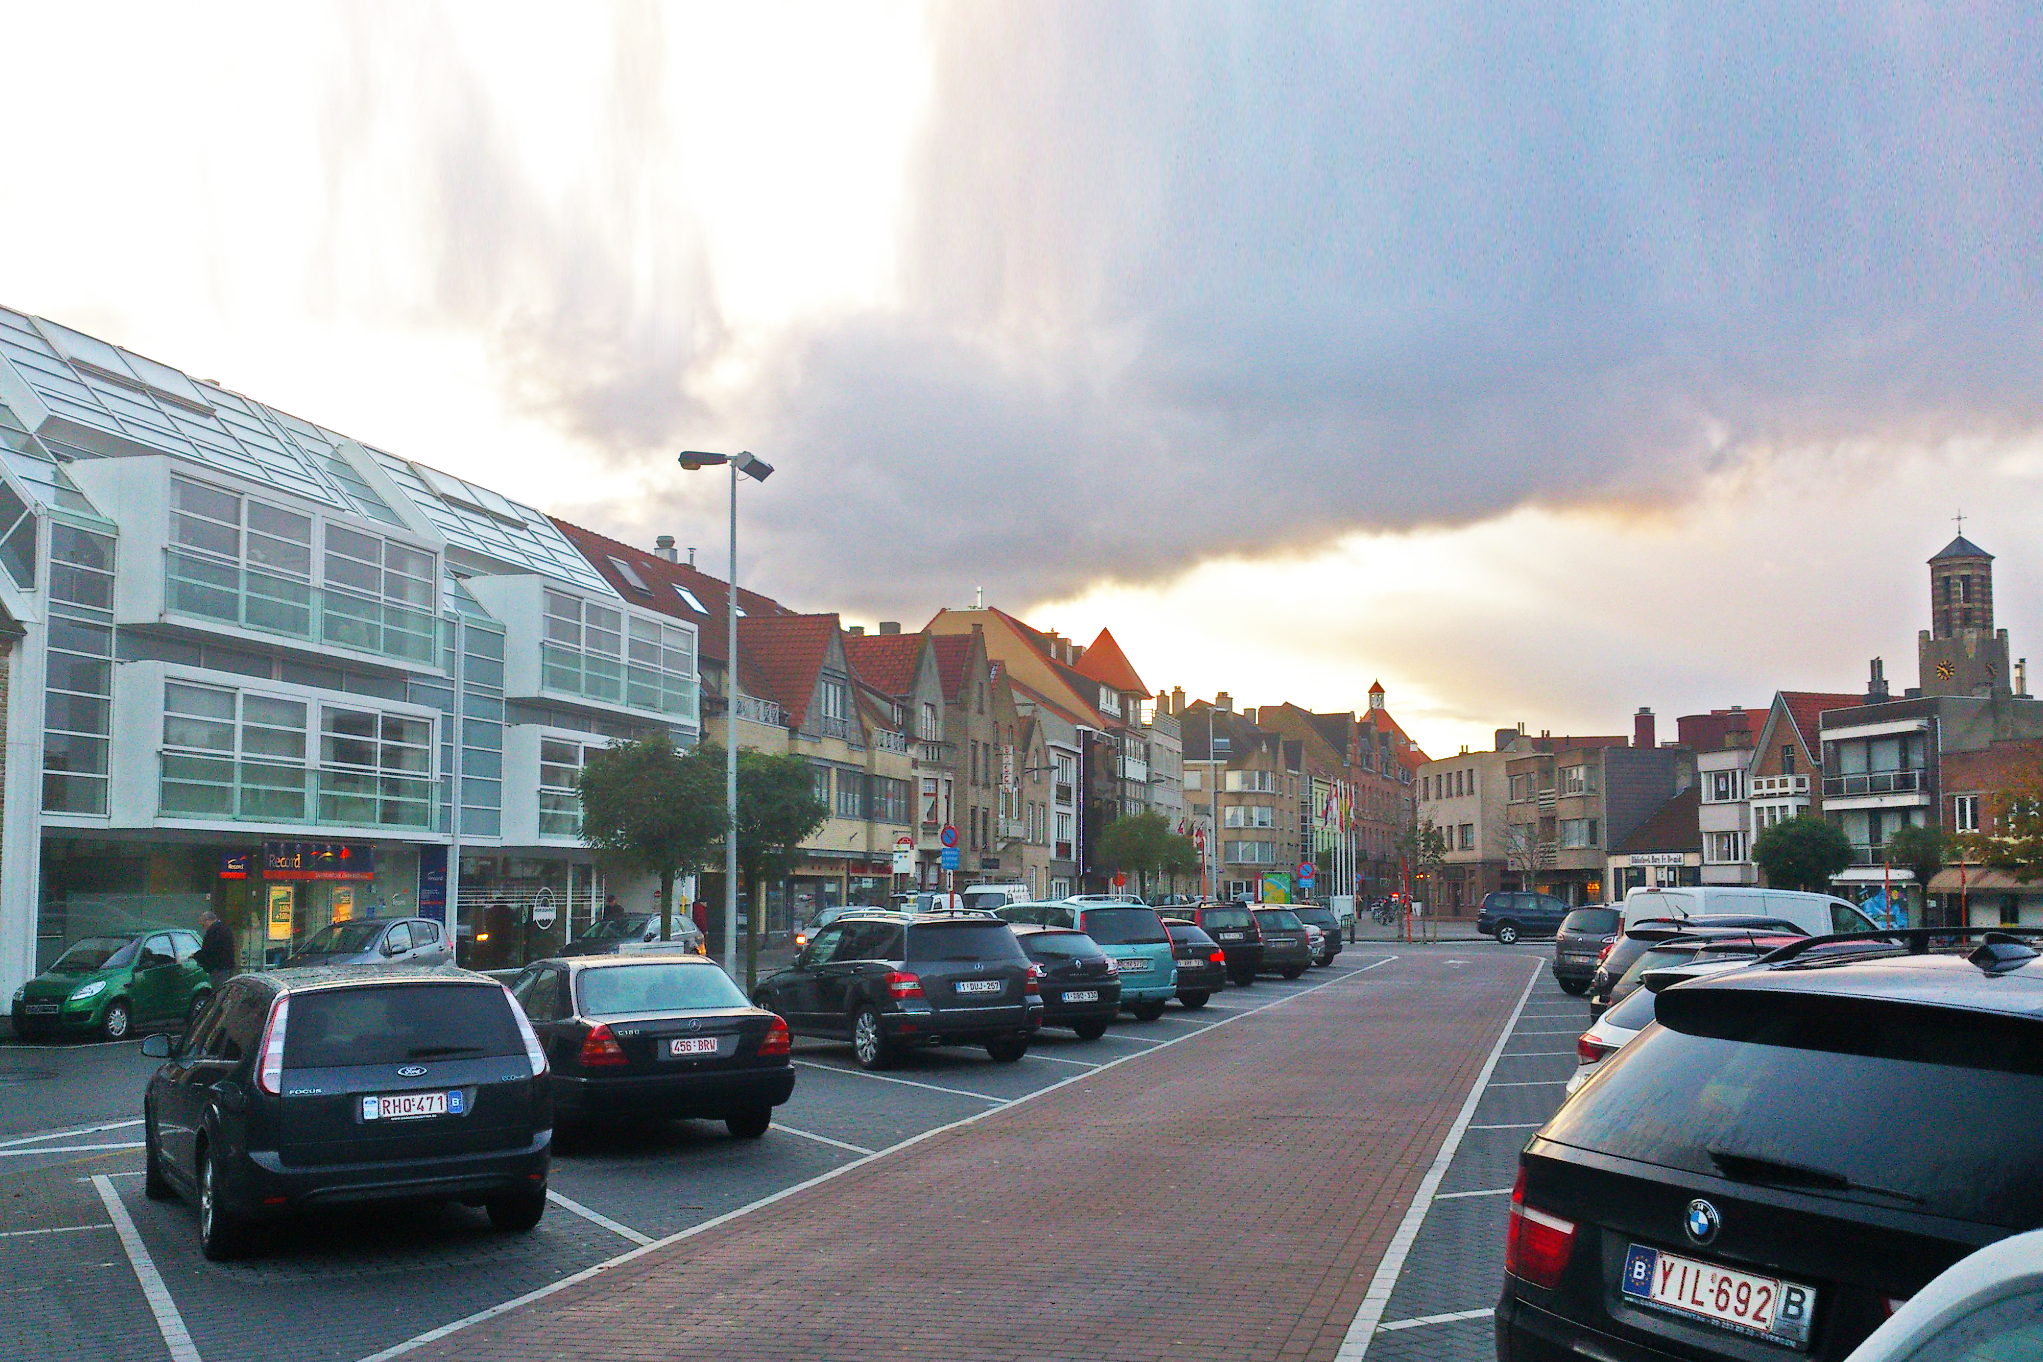
{"type": "Polygon", "coordinates": [[[1500,1362],[1837,1362],[2043,1225],[2039,935],[1810,937],[1659,992],[1520,1156],[1500,1362]]]}

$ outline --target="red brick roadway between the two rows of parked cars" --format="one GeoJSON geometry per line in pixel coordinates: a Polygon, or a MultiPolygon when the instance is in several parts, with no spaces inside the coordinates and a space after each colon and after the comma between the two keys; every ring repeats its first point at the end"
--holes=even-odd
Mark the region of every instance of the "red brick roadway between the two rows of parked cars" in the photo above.
{"type": "Polygon", "coordinates": [[[1534,964],[1463,958],[1142,1054],[413,1356],[1332,1358],[1534,964]]]}

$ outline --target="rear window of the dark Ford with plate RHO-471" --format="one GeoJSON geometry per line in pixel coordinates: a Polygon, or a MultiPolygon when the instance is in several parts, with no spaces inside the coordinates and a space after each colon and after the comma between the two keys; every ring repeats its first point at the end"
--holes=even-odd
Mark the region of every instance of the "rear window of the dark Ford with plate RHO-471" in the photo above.
{"type": "Polygon", "coordinates": [[[376,984],[290,994],[284,1068],[523,1056],[511,996],[480,984],[376,984]]]}

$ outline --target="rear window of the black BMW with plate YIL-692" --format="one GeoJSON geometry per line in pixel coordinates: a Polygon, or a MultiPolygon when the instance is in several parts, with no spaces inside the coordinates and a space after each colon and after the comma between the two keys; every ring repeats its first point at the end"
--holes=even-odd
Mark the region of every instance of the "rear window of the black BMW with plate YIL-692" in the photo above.
{"type": "Polygon", "coordinates": [[[1980,1035],[2004,1025],[1922,1011],[1822,1015],[1769,999],[1706,1027],[1677,1017],[1710,1035],[1663,1021],[1606,1064],[1545,1133],[1814,1197],[2006,1229],[2043,1223],[2035,1025],[2027,1023],[2025,1045],[1980,1035]],[[2027,1062],[2016,1064],[2021,1052],[2027,1062]]]}

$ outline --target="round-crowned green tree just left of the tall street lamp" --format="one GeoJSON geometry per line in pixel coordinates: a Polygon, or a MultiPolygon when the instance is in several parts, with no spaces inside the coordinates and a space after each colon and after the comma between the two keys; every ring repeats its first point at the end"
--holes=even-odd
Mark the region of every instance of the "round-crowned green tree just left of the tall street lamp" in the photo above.
{"type": "Polygon", "coordinates": [[[674,880],[703,868],[723,829],[723,758],[666,737],[588,753],[576,790],[582,841],[660,880],[660,939],[674,939],[674,880]]]}

